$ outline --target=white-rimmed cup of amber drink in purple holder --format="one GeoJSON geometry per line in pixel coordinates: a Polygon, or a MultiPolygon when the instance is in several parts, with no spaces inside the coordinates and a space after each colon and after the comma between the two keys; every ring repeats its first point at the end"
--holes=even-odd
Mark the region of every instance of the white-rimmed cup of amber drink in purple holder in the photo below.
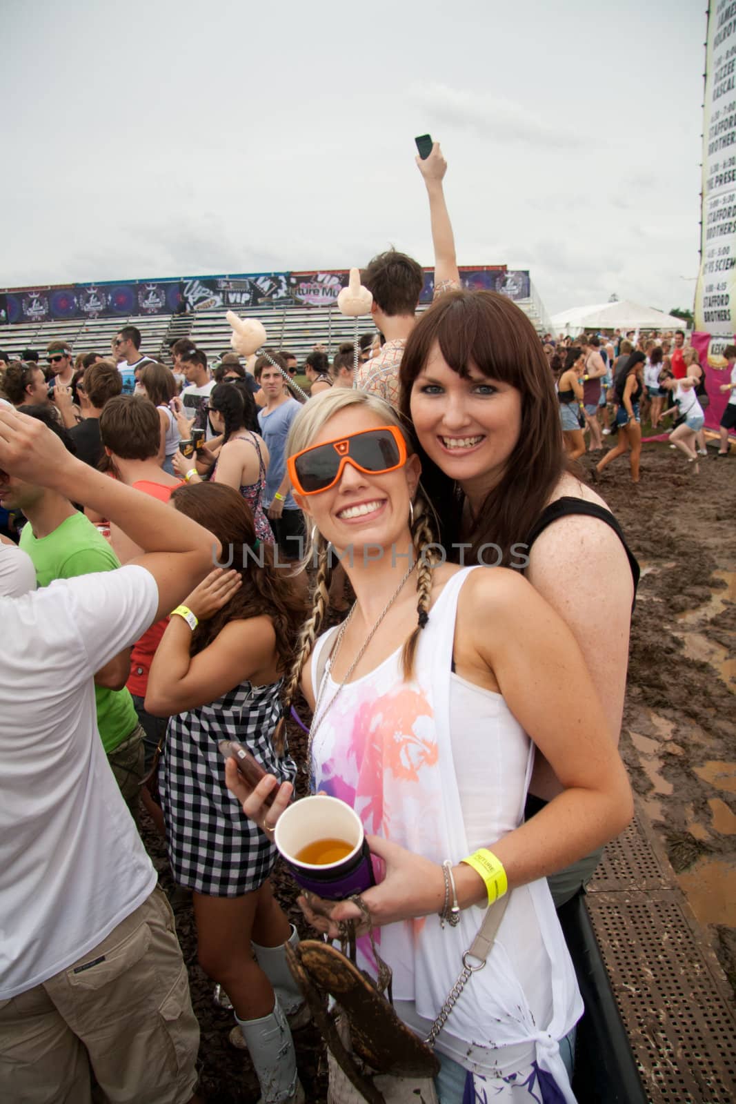
{"type": "Polygon", "coordinates": [[[294,880],[329,901],[375,884],[363,825],[338,797],[302,797],[276,822],[275,842],[294,880]]]}

